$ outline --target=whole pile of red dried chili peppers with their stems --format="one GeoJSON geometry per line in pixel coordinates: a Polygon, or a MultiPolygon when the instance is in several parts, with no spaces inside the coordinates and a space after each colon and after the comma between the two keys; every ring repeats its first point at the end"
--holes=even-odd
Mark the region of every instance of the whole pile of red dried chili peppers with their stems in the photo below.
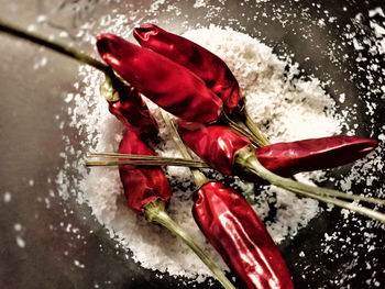
{"type": "MultiPolygon", "coordinates": [[[[207,126],[218,122],[222,115],[227,118],[227,114],[234,116],[243,113],[245,124],[260,137],[256,143],[268,144],[267,138],[258,135],[257,129],[248,121],[244,99],[235,77],[224,62],[201,46],[153,24],[145,24],[134,31],[135,38],[144,47],[112,34],[98,37],[98,51],[109,65],[105,66],[87,55],[68,47],[63,48],[12,26],[1,24],[0,29],[46,45],[106,74],[102,95],[109,102],[110,112],[128,129],[119,148],[122,159],[131,158],[132,155],[141,156],[145,160],[155,159],[153,151],[142,141],[155,137],[158,130],[140,96],[143,93],[183,119],[178,121],[178,131],[185,143],[219,171],[227,175],[243,171],[242,176],[251,177],[254,181],[264,179],[301,196],[385,222],[384,214],[337,198],[377,204],[384,204],[384,200],[310,187],[284,178],[299,171],[353,162],[373,151],[377,146],[376,141],[340,135],[254,147],[251,140],[229,127],[217,124],[207,126]],[[117,78],[111,68],[129,84],[117,78]],[[125,154],[130,157],[124,157],[125,154]]],[[[190,160],[190,155],[178,138],[176,129],[169,120],[166,123],[187,158],[179,160],[179,164],[197,167],[197,162],[190,160]]],[[[231,120],[229,124],[232,125],[231,120]]],[[[234,125],[232,127],[235,129],[234,125]]],[[[245,135],[251,136],[249,133],[245,135]]],[[[165,212],[170,187],[162,169],[150,166],[154,165],[151,162],[141,165],[135,162],[130,165],[119,162],[117,164],[120,165],[119,173],[129,207],[135,213],[144,214],[150,222],[162,224],[182,237],[215,273],[224,288],[233,288],[218,266],[165,212]]],[[[248,288],[294,288],[278,248],[250,204],[234,190],[220,182],[209,181],[199,170],[194,169],[193,176],[197,184],[194,218],[234,274],[248,288]]]]}

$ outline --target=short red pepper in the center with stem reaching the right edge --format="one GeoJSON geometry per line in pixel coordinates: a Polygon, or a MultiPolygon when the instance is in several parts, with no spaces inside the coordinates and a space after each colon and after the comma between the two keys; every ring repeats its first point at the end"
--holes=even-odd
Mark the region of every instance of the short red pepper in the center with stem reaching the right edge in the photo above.
{"type": "MultiPolygon", "coordinates": [[[[200,156],[206,163],[219,171],[222,171],[223,174],[231,171],[232,174],[237,174],[240,177],[243,177],[244,175],[253,176],[254,180],[263,179],[272,185],[287,189],[299,196],[310,197],[319,201],[332,203],[385,223],[385,214],[336,198],[365,201],[376,204],[385,204],[385,200],[360,194],[349,194],[327,188],[314,187],[294,181],[289,178],[280,177],[266,169],[260,163],[256,156],[256,149],[250,145],[250,143],[248,144],[246,140],[242,138],[242,136],[238,133],[232,132],[229,127],[219,125],[208,127],[200,125],[197,127],[196,124],[190,124],[184,121],[179,121],[179,133],[185,143],[190,146],[190,148],[193,148],[193,151],[197,153],[197,155],[200,156]],[[219,137],[221,134],[223,137],[219,137]],[[215,135],[215,137],[211,137],[211,135],[215,135]],[[242,141],[240,142],[239,140],[242,141]]],[[[360,152],[360,156],[363,156],[364,153],[369,153],[369,151],[374,148],[374,142],[370,142],[369,144],[365,144],[365,142],[366,141],[363,142],[363,146],[359,146],[358,152],[360,152]]],[[[355,145],[356,143],[354,146],[355,145]]],[[[346,147],[342,147],[340,153],[346,147]]],[[[287,149],[289,154],[289,144],[287,145],[287,149]]],[[[327,155],[328,154],[323,154],[322,157],[327,157],[327,155]]],[[[336,156],[336,154],[333,155],[336,156]]],[[[330,162],[333,164],[334,160],[330,162]]]]}

